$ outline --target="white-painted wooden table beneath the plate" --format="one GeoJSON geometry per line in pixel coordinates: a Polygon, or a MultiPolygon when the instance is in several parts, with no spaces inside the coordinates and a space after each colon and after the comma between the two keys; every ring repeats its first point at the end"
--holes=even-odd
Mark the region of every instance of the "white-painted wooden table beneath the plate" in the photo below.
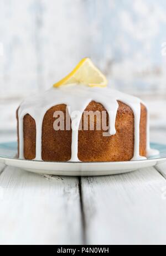
{"type": "Polygon", "coordinates": [[[166,164],[82,178],[0,170],[0,244],[166,244],[166,164]]]}

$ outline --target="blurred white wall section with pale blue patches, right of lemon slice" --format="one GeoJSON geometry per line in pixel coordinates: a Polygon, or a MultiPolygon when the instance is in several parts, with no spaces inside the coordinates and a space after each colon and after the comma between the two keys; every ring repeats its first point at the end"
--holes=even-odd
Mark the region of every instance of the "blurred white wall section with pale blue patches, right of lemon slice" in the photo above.
{"type": "Polygon", "coordinates": [[[87,0],[85,4],[92,56],[115,85],[127,91],[165,92],[166,2],[87,0]]]}

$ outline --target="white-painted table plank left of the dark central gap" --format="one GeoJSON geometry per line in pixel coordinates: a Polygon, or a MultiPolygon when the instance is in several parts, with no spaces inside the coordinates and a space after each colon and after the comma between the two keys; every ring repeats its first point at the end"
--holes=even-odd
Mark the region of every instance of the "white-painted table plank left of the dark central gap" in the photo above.
{"type": "Polygon", "coordinates": [[[0,244],[82,243],[77,178],[7,167],[0,186],[0,244]]]}

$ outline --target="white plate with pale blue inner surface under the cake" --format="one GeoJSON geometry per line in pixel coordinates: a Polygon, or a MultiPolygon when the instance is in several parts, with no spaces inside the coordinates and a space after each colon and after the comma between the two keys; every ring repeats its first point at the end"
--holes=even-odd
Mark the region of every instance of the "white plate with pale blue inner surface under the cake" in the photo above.
{"type": "Polygon", "coordinates": [[[8,166],[22,168],[26,171],[44,173],[48,175],[64,176],[101,176],[115,175],[155,166],[166,161],[166,145],[151,144],[158,149],[159,156],[147,160],[128,162],[43,162],[29,161],[14,157],[17,154],[17,143],[9,142],[0,144],[0,162],[8,166]]]}

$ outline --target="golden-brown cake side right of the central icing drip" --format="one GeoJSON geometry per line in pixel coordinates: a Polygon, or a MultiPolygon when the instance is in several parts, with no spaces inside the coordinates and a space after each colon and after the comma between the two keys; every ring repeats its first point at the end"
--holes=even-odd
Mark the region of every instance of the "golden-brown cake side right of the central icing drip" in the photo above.
{"type": "MultiPolygon", "coordinates": [[[[129,161],[134,150],[134,115],[132,109],[118,101],[116,116],[116,134],[103,137],[101,131],[79,131],[79,160],[94,161],[129,161]]],[[[87,111],[105,111],[105,108],[92,101],[87,111]]],[[[140,147],[141,156],[146,156],[146,107],[141,104],[140,147]]],[[[107,114],[108,124],[108,114],[107,114]]]]}

